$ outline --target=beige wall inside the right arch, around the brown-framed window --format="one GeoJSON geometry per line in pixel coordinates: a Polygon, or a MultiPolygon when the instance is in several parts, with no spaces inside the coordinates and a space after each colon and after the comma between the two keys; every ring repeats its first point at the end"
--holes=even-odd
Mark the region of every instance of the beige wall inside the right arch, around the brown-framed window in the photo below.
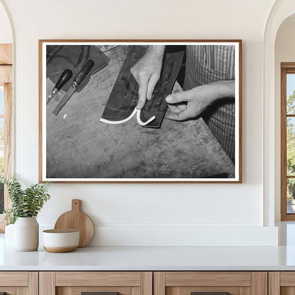
{"type": "Polygon", "coordinates": [[[295,62],[295,19],[285,19],[275,45],[275,218],[281,220],[281,63],[295,62]]]}

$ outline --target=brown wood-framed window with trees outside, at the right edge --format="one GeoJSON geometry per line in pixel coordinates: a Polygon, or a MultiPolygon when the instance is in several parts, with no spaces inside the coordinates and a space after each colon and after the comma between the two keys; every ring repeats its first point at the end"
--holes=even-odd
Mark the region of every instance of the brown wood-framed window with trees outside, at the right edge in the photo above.
{"type": "Polygon", "coordinates": [[[281,220],[295,220],[295,63],[281,63],[281,220]]]}

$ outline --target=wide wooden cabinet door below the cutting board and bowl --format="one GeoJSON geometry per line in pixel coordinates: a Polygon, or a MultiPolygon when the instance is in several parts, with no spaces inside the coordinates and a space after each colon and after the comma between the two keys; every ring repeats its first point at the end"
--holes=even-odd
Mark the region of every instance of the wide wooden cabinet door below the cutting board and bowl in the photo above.
{"type": "Polygon", "coordinates": [[[39,295],[152,295],[153,273],[42,271],[39,273],[39,284],[39,295]]]}

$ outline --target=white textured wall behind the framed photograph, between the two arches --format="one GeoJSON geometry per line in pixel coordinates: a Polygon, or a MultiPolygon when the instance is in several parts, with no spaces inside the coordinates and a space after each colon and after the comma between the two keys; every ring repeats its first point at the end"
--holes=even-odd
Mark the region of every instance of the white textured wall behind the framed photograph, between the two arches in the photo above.
{"type": "Polygon", "coordinates": [[[8,1],[15,39],[15,170],[38,181],[38,39],[242,39],[242,184],[53,184],[38,216],[53,224],[72,198],[103,227],[262,226],[262,38],[265,1],[8,1]],[[59,11],[60,13],[56,13],[59,11]]]}

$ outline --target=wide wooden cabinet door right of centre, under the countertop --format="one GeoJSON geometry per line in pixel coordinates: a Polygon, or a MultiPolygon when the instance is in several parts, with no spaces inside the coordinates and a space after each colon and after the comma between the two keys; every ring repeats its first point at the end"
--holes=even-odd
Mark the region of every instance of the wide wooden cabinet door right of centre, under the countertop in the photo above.
{"type": "Polygon", "coordinates": [[[267,272],[154,272],[154,295],[267,295],[267,272]],[[204,294],[203,294],[204,295],[204,294]]]}

